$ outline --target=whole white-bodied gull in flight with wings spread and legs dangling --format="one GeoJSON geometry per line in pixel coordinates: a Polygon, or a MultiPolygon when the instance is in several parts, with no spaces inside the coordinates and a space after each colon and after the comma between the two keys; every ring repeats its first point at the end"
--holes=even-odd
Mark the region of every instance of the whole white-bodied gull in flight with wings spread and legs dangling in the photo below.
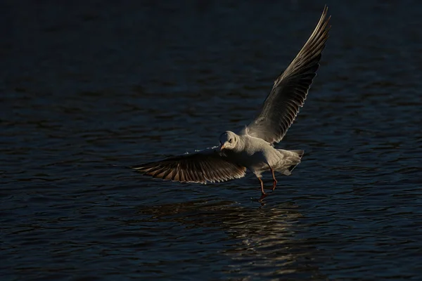
{"type": "Polygon", "coordinates": [[[264,192],[262,172],[271,171],[274,191],[277,184],[274,172],[289,176],[304,153],[303,150],[277,149],[274,144],[283,139],[293,124],[316,76],[330,30],[331,16],[327,17],[327,11],[325,6],[314,32],[276,78],[260,114],[248,126],[238,133],[222,133],[219,147],[129,168],[164,180],[204,184],[242,178],[248,170],[260,181],[260,200],[264,199],[267,193],[264,192]]]}

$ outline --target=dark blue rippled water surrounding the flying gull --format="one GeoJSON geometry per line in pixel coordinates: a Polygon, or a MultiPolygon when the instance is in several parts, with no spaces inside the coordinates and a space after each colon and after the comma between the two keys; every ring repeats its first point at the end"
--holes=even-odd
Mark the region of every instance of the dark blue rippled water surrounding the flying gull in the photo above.
{"type": "Polygon", "coordinates": [[[324,4],[1,1],[1,280],[421,280],[418,1],[328,1],[279,145],[305,157],[264,206],[254,176],[110,166],[248,124],[324,4]]]}

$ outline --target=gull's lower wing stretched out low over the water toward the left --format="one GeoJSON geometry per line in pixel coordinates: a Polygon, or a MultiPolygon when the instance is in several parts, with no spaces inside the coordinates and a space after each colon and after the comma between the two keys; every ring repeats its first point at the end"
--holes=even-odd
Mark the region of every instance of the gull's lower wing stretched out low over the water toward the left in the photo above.
{"type": "Polygon", "coordinates": [[[169,157],[157,162],[129,166],[144,174],[185,183],[214,183],[245,176],[245,167],[234,164],[214,148],[169,157]]]}

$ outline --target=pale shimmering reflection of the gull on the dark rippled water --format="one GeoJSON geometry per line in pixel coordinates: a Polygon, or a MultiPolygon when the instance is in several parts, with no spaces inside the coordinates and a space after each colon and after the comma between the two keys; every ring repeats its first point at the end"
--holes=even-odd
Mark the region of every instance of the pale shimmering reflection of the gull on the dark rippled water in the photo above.
{"type": "MultiPolygon", "coordinates": [[[[302,215],[294,204],[257,208],[231,201],[197,200],[179,204],[141,207],[152,221],[172,221],[188,228],[219,228],[226,233],[224,249],[218,254],[231,258],[225,268],[238,277],[293,277],[326,280],[319,273],[313,253],[316,249],[297,237],[302,215]]],[[[217,254],[217,253],[216,253],[217,254]]]]}

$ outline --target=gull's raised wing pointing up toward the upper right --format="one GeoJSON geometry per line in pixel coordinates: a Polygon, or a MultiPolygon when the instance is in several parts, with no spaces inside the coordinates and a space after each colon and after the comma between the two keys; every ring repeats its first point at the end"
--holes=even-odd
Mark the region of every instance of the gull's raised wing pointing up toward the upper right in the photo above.
{"type": "Polygon", "coordinates": [[[326,18],[327,10],[325,7],[314,32],[296,58],[274,81],[273,89],[267,96],[260,115],[246,129],[250,136],[262,138],[269,143],[278,143],[286,135],[298,115],[299,107],[305,102],[319,67],[321,52],[330,29],[330,18],[326,18]]]}

